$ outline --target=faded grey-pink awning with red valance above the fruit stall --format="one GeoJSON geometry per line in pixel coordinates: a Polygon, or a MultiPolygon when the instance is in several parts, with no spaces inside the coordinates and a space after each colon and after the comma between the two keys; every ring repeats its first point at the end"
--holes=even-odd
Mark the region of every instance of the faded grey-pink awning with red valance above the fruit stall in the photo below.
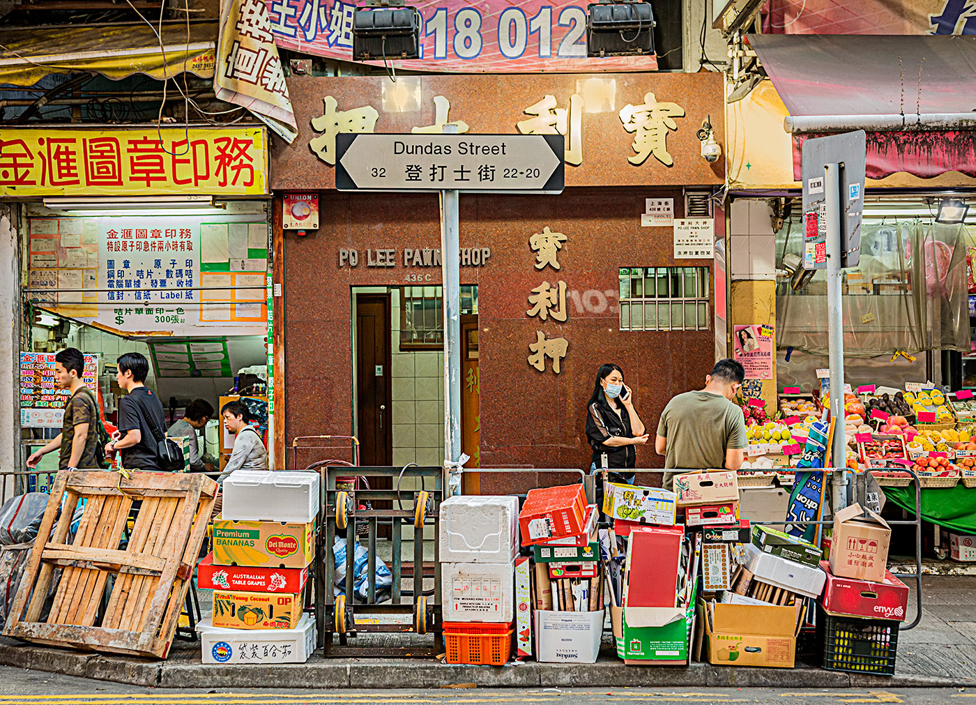
{"type": "Polygon", "coordinates": [[[793,135],[797,179],[805,139],[861,127],[868,133],[871,179],[899,171],[923,179],[948,171],[976,176],[976,36],[751,34],[748,39],[791,117],[823,116],[823,124],[831,126],[793,135]],[[944,129],[900,127],[926,122],[944,129]],[[873,130],[873,123],[888,126],[873,130]]]}

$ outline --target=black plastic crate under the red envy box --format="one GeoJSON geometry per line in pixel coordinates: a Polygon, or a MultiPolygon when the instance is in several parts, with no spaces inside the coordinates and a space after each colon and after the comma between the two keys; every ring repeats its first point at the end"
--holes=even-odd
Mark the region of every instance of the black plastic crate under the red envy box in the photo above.
{"type": "Polygon", "coordinates": [[[817,641],[829,671],[893,676],[898,625],[886,619],[828,614],[817,605],[817,641]]]}

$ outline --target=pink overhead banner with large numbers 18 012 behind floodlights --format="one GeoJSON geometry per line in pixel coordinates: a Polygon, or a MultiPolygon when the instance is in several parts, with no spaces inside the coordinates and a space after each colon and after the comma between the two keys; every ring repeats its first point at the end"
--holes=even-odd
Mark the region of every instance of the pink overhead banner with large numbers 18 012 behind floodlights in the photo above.
{"type": "MultiPolygon", "coordinates": [[[[279,47],[342,61],[352,57],[354,3],[266,0],[279,47]]],[[[458,73],[654,71],[657,58],[587,58],[587,5],[542,0],[421,0],[421,59],[397,67],[458,73]]],[[[384,62],[369,62],[382,66],[384,62]]]]}

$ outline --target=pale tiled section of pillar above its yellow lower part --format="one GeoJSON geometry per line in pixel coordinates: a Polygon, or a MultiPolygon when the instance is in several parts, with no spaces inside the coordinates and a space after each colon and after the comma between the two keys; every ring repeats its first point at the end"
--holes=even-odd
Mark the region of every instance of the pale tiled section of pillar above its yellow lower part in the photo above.
{"type": "Polygon", "coordinates": [[[732,201],[729,259],[733,279],[776,278],[776,234],[765,200],[737,198],[732,201]]]}

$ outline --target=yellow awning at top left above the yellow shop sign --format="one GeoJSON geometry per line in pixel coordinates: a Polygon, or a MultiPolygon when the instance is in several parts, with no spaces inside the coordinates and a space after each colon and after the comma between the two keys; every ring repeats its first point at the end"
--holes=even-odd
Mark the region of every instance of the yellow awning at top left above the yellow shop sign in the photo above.
{"type": "Polygon", "coordinates": [[[0,83],[32,86],[51,73],[95,71],[118,80],[142,73],[158,80],[183,71],[213,78],[217,21],[145,22],[0,30],[0,83]]]}

